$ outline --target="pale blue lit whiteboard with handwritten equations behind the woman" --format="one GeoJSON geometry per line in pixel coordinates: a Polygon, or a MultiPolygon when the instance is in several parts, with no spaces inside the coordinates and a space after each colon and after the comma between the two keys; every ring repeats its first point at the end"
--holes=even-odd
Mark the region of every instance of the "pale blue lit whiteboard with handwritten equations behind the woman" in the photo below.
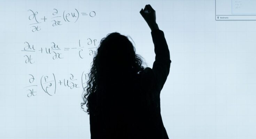
{"type": "Polygon", "coordinates": [[[161,91],[169,138],[254,139],[256,23],[215,21],[215,0],[1,0],[0,138],[90,138],[80,103],[100,40],[129,35],[153,66],[146,4],[172,60],[161,91]]]}

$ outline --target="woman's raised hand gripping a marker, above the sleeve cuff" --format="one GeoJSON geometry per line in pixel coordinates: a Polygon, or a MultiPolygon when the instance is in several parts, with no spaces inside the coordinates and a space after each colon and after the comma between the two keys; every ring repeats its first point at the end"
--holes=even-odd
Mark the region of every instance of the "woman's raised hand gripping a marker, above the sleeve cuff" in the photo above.
{"type": "Polygon", "coordinates": [[[145,19],[151,30],[159,29],[156,24],[156,11],[150,5],[146,5],[144,10],[141,9],[140,14],[145,19]]]}

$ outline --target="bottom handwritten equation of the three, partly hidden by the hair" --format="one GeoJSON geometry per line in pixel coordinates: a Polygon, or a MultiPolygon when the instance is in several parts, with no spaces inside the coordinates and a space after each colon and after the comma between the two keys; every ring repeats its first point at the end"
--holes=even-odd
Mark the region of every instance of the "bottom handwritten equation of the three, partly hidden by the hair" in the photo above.
{"type": "MultiPolygon", "coordinates": [[[[28,79],[28,82],[30,85],[24,88],[26,89],[28,88],[28,90],[26,90],[28,92],[27,96],[33,97],[37,95],[38,85],[35,84],[37,79],[32,74],[29,74],[29,76],[30,78],[28,79]]],[[[84,85],[86,84],[87,78],[88,78],[88,73],[85,73],[85,72],[82,73],[82,78],[80,77],[80,79],[82,79],[80,83],[73,74],[69,74],[68,78],[64,78],[60,80],[56,79],[56,76],[54,73],[51,75],[42,75],[39,79],[40,88],[44,93],[46,93],[49,96],[53,96],[56,94],[57,87],[66,87],[69,89],[76,89],[76,88],[82,87],[85,90],[84,85]]]]}

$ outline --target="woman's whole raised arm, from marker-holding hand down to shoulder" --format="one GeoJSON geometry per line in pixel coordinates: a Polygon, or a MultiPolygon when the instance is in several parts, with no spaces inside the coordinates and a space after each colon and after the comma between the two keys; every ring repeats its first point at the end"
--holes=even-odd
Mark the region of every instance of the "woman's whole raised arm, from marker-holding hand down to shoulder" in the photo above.
{"type": "Polygon", "coordinates": [[[157,90],[160,93],[170,71],[171,60],[169,48],[163,31],[159,30],[156,24],[155,10],[150,5],[146,5],[144,10],[141,9],[140,14],[151,29],[156,54],[153,68],[147,67],[145,68],[145,72],[149,74],[149,76],[153,76],[157,90]]]}

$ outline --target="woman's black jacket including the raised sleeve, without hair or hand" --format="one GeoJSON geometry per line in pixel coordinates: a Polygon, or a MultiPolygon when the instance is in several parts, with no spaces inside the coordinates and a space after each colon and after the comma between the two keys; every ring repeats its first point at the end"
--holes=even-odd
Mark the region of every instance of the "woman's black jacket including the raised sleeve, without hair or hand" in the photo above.
{"type": "Polygon", "coordinates": [[[101,114],[90,113],[91,139],[169,139],[163,125],[160,92],[170,71],[164,33],[151,32],[155,46],[153,68],[127,77],[109,93],[101,114]],[[103,114],[104,112],[104,114],[103,114]]]}

